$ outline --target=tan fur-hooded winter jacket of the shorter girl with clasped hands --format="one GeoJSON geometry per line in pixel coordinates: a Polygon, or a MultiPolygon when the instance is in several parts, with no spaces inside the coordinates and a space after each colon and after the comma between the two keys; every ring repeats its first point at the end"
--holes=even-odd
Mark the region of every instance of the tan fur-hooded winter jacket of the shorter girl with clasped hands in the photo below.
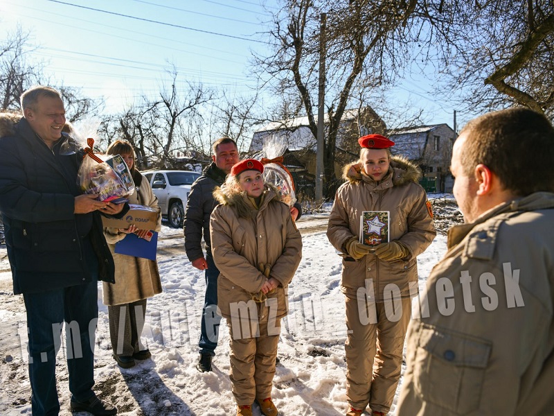
{"type": "Polygon", "coordinates": [[[278,301],[277,317],[287,314],[287,287],[302,257],[302,238],[290,216],[289,206],[278,200],[266,184],[260,209],[254,209],[246,193],[216,188],[220,202],[210,218],[210,234],[217,280],[217,306],[225,318],[231,316],[231,302],[248,302],[267,278],[259,264],[271,266],[270,277],[280,286],[268,295],[278,301]],[[246,216],[239,216],[238,212],[246,216]]]}

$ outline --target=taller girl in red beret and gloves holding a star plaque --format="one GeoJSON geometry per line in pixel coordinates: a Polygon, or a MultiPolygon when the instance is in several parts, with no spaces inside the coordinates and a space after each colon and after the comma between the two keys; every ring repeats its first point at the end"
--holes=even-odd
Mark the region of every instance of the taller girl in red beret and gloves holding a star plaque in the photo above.
{"type": "MultiPolygon", "coordinates": [[[[369,406],[377,416],[391,410],[411,296],[418,293],[416,257],[431,244],[436,231],[427,194],[418,183],[419,168],[391,156],[394,142],[382,135],[360,137],[358,143],[360,158],[344,169],[346,183],[334,197],[327,236],[344,253],[341,291],[346,299],[350,405],[346,415],[360,416],[369,406]],[[364,211],[388,211],[388,241],[379,245],[369,245],[373,237],[361,241],[364,211]]],[[[386,226],[377,218],[366,218],[364,223],[375,235],[386,226]]]]}

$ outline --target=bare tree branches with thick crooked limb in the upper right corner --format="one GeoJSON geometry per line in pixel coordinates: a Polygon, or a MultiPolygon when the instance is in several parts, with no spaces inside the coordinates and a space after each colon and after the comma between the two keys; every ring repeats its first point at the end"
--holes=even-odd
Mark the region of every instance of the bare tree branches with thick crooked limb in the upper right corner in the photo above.
{"type": "Polygon", "coordinates": [[[551,0],[418,2],[412,34],[446,96],[472,110],[525,105],[554,114],[551,0]],[[420,48],[422,49],[422,48],[420,48]]]}

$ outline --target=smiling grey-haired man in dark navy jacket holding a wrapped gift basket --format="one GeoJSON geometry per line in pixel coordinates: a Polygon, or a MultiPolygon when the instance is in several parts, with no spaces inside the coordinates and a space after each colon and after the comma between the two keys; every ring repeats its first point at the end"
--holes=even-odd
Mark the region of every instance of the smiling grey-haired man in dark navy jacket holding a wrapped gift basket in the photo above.
{"type": "Polygon", "coordinates": [[[0,211],[14,293],[23,294],[28,324],[33,415],[57,415],[55,356],[66,322],[71,410],[115,415],[92,390],[98,320],[97,281],[114,282],[114,261],[100,210],[120,217],[123,205],[82,195],[82,155],[62,155],[65,109],[60,93],[33,87],[21,95],[23,118],[0,114],[0,211]]]}

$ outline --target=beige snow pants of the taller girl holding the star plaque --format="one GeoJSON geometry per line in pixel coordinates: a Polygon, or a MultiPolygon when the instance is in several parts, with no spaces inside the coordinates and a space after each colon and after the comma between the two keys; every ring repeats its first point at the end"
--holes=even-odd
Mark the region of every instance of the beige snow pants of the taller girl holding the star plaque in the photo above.
{"type": "Polygon", "coordinates": [[[343,293],[348,328],[344,346],[348,403],[357,409],[369,404],[371,410],[388,413],[400,379],[411,299],[368,304],[358,300],[352,288],[343,287],[343,293]],[[366,311],[370,312],[364,315],[366,311]]]}

